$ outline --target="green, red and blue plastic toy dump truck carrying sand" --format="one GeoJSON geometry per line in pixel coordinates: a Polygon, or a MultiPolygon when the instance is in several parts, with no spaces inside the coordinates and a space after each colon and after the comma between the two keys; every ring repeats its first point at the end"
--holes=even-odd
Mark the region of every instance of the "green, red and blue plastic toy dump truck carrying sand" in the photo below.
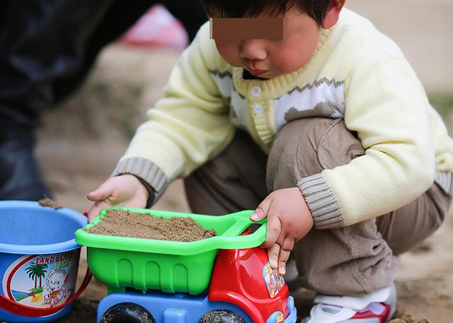
{"type": "MultiPolygon", "coordinates": [[[[117,208],[125,209],[125,208],[117,208]]],[[[216,235],[195,242],[147,240],[76,232],[93,276],[108,288],[99,323],[294,323],[294,300],[270,267],[266,225],[253,233],[252,211],[225,216],[125,209],[149,216],[193,218],[216,235]]],[[[106,210],[90,224],[100,221],[106,210]]]]}

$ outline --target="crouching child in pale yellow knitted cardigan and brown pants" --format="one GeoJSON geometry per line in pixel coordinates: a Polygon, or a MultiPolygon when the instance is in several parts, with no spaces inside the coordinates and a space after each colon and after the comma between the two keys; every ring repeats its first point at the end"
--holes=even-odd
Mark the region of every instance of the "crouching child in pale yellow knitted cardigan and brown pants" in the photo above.
{"type": "Polygon", "coordinates": [[[185,177],[195,213],[268,217],[270,264],[285,274],[292,252],[302,286],[325,294],[304,322],[389,319],[395,255],[452,199],[453,141],[423,86],[345,0],[204,2],[214,40],[206,24],[182,54],[113,177],[88,194],[90,218],[150,206],[185,177]],[[283,34],[244,36],[219,17],[282,21],[283,34]]]}

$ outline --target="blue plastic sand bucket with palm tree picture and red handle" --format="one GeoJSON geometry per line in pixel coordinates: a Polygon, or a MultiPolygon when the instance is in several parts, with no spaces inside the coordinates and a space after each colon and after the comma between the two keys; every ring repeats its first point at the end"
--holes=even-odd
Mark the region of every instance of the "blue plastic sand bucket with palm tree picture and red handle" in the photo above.
{"type": "Polygon", "coordinates": [[[74,293],[86,217],[33,201],[0,201],[0,322],[52,322],[66,315],[74,293]]]}

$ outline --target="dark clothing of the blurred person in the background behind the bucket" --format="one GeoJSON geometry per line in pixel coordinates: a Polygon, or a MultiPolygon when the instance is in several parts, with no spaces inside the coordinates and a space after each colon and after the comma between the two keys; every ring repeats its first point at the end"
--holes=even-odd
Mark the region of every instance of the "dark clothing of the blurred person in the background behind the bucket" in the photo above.
{"type": "Polygon", "coordinates": [[[190,41],[207,20],[195,0],[0,2],[0,200],[50,196],[33,156],[41,112],[73,93],[98,52],[158,2],[190,41]]]}

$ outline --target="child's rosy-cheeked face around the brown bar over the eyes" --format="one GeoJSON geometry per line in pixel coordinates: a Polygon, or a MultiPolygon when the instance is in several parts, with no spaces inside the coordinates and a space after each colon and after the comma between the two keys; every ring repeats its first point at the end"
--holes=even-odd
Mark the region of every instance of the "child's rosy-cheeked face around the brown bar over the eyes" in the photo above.
{"type": "Polygon", "coordinates": [[[224,39],[213,35],[219,54],[232,66],[243,67],[260,78],[275,78],[301,69],[318,46],[321,28],[297,8],[277,18],[283,18],[280,40],[234,39],[234,35],[224,39]]]}

